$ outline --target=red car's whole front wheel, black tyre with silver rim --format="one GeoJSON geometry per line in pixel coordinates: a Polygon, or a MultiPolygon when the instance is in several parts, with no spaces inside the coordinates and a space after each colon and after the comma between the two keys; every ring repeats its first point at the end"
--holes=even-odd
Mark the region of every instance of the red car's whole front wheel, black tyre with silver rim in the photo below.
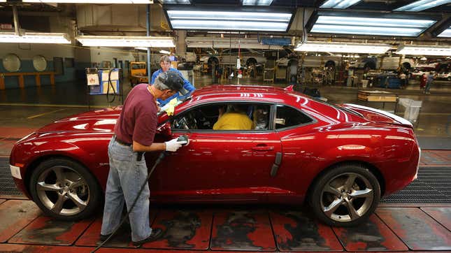
{"type": "Polygon", "coordinates": [[[45,215],[66,221],[92,215],[102,199],[102,191],[90,171],[76,161],[64,158],[48,159],[39,164],[31,174],[29,189],[33,201],[45,215]],[[51,210],[51,206],[55,210],[51,210]]]}

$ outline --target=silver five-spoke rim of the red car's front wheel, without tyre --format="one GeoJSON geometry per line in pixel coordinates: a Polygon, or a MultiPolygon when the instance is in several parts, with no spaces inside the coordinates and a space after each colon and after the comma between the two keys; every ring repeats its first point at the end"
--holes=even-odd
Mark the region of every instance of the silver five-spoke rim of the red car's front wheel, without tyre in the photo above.
{"type": "Polygon", "coordinates": [[[52,166],[38,177],[36,191],[45,208],[57,215],[76,215],[90,201],[90,188],[73,168],[52,166]]]}

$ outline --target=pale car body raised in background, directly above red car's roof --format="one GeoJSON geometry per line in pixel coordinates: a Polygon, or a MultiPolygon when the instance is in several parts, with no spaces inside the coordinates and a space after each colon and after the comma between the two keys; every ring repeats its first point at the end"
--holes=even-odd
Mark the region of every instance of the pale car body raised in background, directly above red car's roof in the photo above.
{"type": "MultiPolygon", "coordinates": [[[[238,48],[228,48],[222,50],[220,54],[211,54],[201,57],[200,61],[207,63],[210,66],[213,62],[217,66],[218,64],[234,65],[236,66],[236,59],[238,58],[238,48]]],[[[266,58],[263,52],[257,52],[256,50],[241,48],[240,59],[242,66],[257,66],[264,64],[266,58]]]]}

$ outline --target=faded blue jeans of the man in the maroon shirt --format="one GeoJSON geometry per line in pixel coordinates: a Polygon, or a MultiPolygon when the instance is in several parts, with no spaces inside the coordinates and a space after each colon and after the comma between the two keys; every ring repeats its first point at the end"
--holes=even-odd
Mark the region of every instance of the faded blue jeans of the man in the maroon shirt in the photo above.
{"type": "MultiPolygon", "coordinates": [[[[110,173],[106,182],[105,208],[103,209],[102,235],[108,235],[119,226],[124,201],[130,210],[138,191],[148,175],[145,159],[136,161],[137,152],[131,146],[121,145],[115,137],[108,145],[110,158],[110,173]]],[[[152,229],[149,224],[149,185],[146,184],[135,207],[129,214],[131,240],[134,242],[150,236],[152,229]]]]}

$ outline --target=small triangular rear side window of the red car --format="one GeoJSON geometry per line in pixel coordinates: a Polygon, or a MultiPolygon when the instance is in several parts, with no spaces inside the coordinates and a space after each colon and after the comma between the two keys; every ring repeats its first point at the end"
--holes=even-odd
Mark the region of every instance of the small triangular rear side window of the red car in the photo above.
{"type": "Polygon", "coordinates": [[[289,106],[277,105],[275,110],[275,129],[293,127],[313,121],[312,118],[301,113],[301,111],[289,106]]]}

